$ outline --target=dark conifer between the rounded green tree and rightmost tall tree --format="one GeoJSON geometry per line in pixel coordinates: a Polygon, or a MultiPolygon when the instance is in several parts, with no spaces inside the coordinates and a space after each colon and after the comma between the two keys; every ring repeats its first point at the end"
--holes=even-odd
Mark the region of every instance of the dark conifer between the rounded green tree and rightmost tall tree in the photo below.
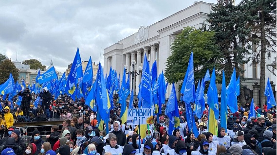
{"type": "MultiPolygon", "coordinates": [[[[212,7],[212,10],[207,21],[210,23],[209,30],[215,32],[216,43],[224,55],[223,65],[228,83],[233,69],[236,69],[239,76],[244,72],[240,65],[249,62],[249,58],[246,59],[244,55],[250,54],[248,36],[251,28],[245,27],[246,14],[241,6],[233,5],[233,0],[218,0],[218,5],[212,7]]],[[[240,80],[244,80],[243,77],[240,77],[240,80]]],[[[243,89],[242,86],[240,88],[243,89]]],[[[240,101],[245,103],[244,91],[240,91],[240,101]]]]}

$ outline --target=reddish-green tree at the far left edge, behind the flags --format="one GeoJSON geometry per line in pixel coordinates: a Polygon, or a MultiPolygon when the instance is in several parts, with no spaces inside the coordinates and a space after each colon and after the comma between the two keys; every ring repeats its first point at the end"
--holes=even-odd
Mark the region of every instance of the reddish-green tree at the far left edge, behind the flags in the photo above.
{"type": "Polygon", "coordinates": [[[12,73],[14,80],[18,80],[19,70],[10,59],[6,59],[3,63],[0,63],[0,84],[6,82],[12,73]]]}

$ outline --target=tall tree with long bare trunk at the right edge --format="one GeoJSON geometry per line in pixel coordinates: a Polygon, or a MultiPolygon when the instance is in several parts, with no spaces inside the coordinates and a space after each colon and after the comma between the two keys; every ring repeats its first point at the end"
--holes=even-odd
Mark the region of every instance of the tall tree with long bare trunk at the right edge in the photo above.
{"type": "MultiPolygon", "coordinates": [[[[248,26],[252,28],[251,41],[253,62],[260,64],[259,90],[260,103],[265,104],[265,61],[266,54],[276,53],[276,0],[242,0],[240,5],[246,13],[248,26]]],[[[274,62],[269,62],[276,66],[274,62]]]]}

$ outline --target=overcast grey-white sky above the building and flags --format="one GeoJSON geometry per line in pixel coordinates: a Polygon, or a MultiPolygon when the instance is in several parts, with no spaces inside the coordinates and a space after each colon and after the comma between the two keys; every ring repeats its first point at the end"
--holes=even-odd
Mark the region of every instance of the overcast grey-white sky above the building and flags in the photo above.
{"type": "MultiPolygon", "coordinates": [[[[0,0],[0,53],[22,62],[37,59],[58,71],[73,62],[103,64],[104,49],[195,0],[0,0]]],[[[198,0],[199,1],[199,0],[198,0]]],[[[217,0],[203,0],[217,3],[217,0]]],[[[237,3],[237,2],[236,2],[237,3]]]]}

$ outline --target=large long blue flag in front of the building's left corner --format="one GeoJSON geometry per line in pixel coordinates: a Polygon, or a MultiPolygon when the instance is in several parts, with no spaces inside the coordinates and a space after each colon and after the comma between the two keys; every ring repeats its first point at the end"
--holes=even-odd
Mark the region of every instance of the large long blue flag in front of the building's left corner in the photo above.
{"type": "Polygon", "coordinates": [[[109,109],[111,104],[108,100],[108,91],[105,84],[104,73],[102,71],[101,63],[99,62],[99,69],[96,76],[96,87],[95,87],[95,102],[99,108],[99,113],[102,120],[109,118],[109,109]]]}

